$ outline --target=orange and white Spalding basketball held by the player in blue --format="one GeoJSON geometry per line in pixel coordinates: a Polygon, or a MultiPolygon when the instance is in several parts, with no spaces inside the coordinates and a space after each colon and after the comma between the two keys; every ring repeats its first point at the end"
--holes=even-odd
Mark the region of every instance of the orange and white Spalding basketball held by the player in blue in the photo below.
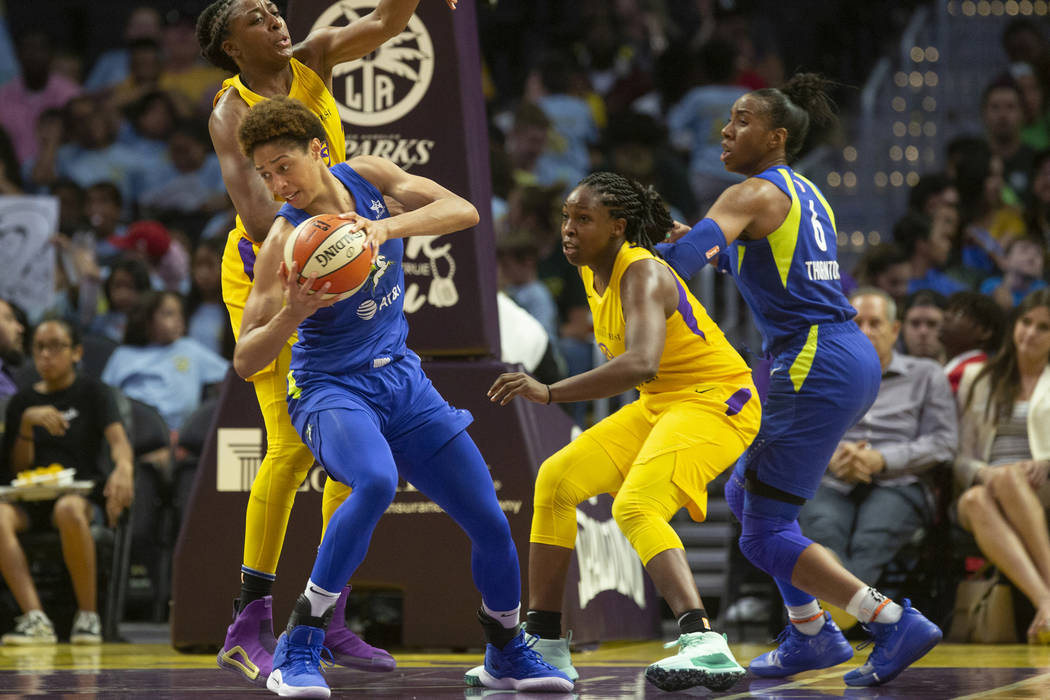
{"type": "Polygon", "coordinates": [[[295,227],[285,242],[285,266],[298,262],[299,280],[316,273],[314,290],[331,282],[326,298],[345,299],[357,292],[372,271],[372,247],[364,232],[351,231],[352,221],[336,214],[318,214],[295,227]]]}

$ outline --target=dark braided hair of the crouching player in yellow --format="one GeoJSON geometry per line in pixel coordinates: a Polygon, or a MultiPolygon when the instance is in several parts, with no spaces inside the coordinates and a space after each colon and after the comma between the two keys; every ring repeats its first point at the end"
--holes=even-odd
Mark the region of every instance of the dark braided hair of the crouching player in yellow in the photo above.
{"type": "Polygon", "coordinates": [[[655,253],[653,246],[662,242],[674,228],[674,219],[664,199],[651,186],[607,170],[584,177],[578,187],[585,186],[598,194],[602,204],[609,208],[610,216],[627,220],[624,234],[629,242],[655,253]]]}

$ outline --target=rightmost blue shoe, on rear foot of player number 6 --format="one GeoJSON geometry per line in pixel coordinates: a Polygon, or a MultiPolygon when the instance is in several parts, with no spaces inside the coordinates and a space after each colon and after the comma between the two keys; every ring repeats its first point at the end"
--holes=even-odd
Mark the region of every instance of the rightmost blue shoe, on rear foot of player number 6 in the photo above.
{"type": "Polygon", "coordinates": [[[888,683],[937,646],[943,634],[937,627],[911,607],[905,598],[904,612],[896,622],[868,622],[862,627],[872,635],[875,649],[864,665],[845,675],[846,685],[881,685],[888,683]]]}

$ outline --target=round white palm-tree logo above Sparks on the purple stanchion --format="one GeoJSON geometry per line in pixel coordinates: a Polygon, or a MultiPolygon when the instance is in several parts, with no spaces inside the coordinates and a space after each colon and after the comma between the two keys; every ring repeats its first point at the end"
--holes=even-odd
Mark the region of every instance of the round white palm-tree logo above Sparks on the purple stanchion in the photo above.
{"type": "MultiPolygon", "coordinates": [[[[372,12],[374,0],[341,0],[329,6],[311,30],[342,26],[372,12]]],[[[434,77],[434,44],[416,15],[405,30],[357,61],[332,71],[339,116],[357,126],[382,126],[413,110],[434,77]]]]}

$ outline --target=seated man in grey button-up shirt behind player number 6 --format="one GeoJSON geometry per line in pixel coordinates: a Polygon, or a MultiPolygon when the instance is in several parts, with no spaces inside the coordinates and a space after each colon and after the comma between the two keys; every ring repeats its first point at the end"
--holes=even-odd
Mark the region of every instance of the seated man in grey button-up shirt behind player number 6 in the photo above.
{"type": "Polygon", "coordinates": [[[894,352],[901,324],[889,296],[860,289],[849,301],[882,362],[882,385],[872,408],[839,443],[799,525],[861,580],[874,582],[928,522],[924,476],[954,458],[959,436],[940,365],[894,352]]]}

